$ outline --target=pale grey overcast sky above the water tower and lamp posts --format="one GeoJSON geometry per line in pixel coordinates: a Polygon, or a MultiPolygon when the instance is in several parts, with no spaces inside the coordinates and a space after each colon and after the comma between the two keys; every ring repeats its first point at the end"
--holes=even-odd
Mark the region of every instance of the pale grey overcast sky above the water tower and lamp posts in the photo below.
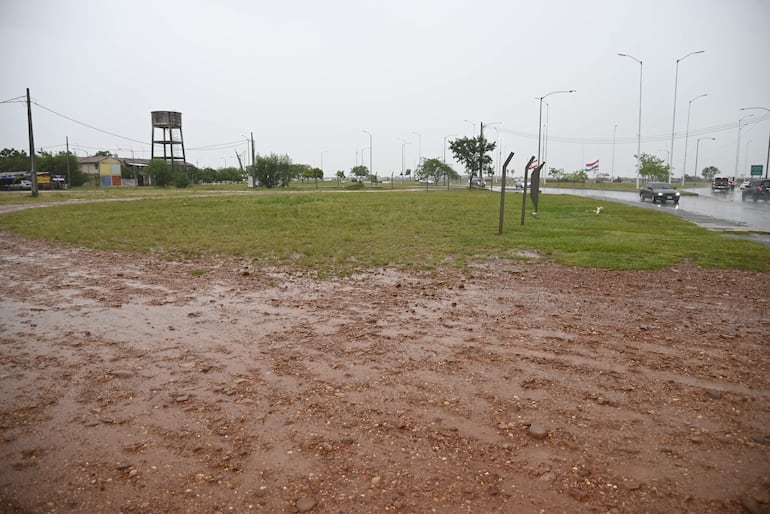
{"type": "MultiPolygon", "coordinates": [[[[413,168],[502,122],[486,135],[520,175],[537,153],[536,98],[574,89],[543,105],[547,167],[599,159],[612,173],[614,149],[614,175],[630,177],[640,69],[642,152],[666,161],[676,62],[700,50],[679,63],[674,173],[689,107],[688,173],[709,138],[698,167],[733,175],[737,154],[742,175],[765,163],[770,134],[770,113],[739,111],[770,109],[768,0],[2,0],[0,102],[30,88],[47,151],[69,137],[81,156],[148,158],[150,112],[170,110],[199,166],[235,165],[253,132],[258,153],[327,176],[368,166],[363,131],[374,171],[398,175],[402,150],[413,168]]],[[[0,148],[28,146],[24,104],[0,103],[0,148]]]]}

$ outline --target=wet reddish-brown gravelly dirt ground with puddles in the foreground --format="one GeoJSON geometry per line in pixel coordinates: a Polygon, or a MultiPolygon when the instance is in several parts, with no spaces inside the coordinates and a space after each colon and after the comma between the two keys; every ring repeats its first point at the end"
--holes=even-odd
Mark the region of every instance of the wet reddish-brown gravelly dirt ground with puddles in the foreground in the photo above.
{"type": "Polygon", "coordinates": [[[0,236],[1,512],[770,512],[770,274],[0,236]]]}

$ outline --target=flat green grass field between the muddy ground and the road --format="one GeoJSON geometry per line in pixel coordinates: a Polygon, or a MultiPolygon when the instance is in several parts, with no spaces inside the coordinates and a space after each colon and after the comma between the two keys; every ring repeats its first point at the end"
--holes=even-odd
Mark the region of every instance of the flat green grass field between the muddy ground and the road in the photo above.
{"type": "MultiPolygon", "coordinates": [[[[115,190],[103,198],[135,192],[115,190]]],[[[64,244],[168,258],[236,255],[320,275],[385,266],[464,269],[494,258],[528,259],[533,252],[548,261],[601,268],[686,261],[770,269],[770,248],[758,243],[725,238],[663,212],[568,195],[547,195],[540,216],[528,215],[521,226],[521,194],[509,193],[498,236],[500,196],[488,191],[140,192],[142,198],[132,201],[13,212],[0,216],[0,226],[64,244]],[[596,214],[599,204],[603,212],[596,214]]],[[[87,193],[82,199],[102,198],[87,193]]]]}

